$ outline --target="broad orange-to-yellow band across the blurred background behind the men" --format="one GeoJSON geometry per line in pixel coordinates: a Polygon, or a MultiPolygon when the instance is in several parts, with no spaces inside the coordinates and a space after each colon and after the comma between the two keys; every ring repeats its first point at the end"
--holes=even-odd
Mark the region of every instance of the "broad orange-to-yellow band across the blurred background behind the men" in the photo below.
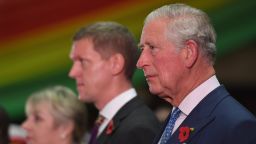
{"type": "MultiPolygon", "coordinates": [[[[72,21],[28,33],[12,43],[7,43],[0,48],[0,86],[29,80],[68,67],[71,37],[79,27],[89,22],[114,20],[127,25],[139,38],[145,16],[157,7],[175,2],[179,1],[150,0],[115,10],[105,9],[102,14],[86,14],[72,21]]],[[[185,2],[204,9],[214,9],[227,4],[227,1],[222,0],[211,3],[205,0],[185,2]]]]}

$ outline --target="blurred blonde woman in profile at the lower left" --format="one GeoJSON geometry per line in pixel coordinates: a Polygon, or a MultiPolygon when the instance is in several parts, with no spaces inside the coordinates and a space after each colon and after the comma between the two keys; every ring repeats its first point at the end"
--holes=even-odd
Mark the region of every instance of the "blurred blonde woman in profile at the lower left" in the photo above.
{"type": "Polygon", "coordinates": [[[80,144],[86,130],[86,109],[67,87],[55,86],[32,94],[22,127],[30,144],[80,144]]]}

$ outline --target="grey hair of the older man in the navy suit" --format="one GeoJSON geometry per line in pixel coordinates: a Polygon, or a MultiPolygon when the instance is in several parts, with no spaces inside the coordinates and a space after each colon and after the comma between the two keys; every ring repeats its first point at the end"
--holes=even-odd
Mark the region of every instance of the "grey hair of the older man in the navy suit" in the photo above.
{"type": "Polygon", "coordinates": [[[194,40],[211,64],[216,57],[216,33],[208,15],[185,4],[170,4],[152,11],[145,19],[145,25],[156,19],[167,21],[167,37],[178,48],[187,40],[194,40]]]}

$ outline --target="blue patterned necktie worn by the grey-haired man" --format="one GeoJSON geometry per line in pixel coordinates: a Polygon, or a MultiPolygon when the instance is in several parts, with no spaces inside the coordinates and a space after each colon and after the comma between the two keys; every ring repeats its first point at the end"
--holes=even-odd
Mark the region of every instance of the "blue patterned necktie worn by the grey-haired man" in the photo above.
{"type": "Polygon", "coordinates": [[[166,142],[170,139],[173,127],[175,125],[175,122],[176,122],[177,118],[180,116],[180,113],[181,113],[181,111],[180,111],[179,108],[176,108],[172,112],[171,118],[169,119],[169,121],[168,121],[168,123],[165,127],[165,130],[162,134],[162,137],[160,139],[160,144],[166,144],[166,142]]]}

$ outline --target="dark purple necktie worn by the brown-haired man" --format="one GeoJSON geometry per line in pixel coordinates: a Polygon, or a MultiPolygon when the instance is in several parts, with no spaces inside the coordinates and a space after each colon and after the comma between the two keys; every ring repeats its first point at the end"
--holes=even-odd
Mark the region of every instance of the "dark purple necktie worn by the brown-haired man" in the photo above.
{"type": "Polygon", "coordinates": [[[89,144],[97,144],[96,139],[97,139],[98,130],[100,125],[103,123],[103,121],[104,121],[104,117],[99,115],[92,128],[89,144]]]}

